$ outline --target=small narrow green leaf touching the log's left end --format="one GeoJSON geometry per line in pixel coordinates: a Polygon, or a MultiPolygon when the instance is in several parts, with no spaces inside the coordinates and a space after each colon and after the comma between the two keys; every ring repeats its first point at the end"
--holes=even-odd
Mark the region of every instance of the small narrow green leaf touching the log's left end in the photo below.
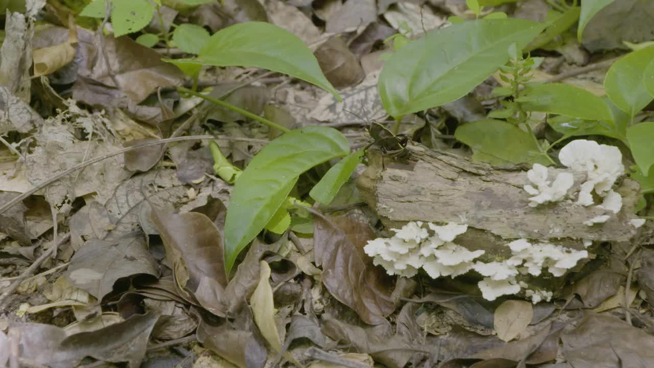
{"type": "Polygon", "coordinates": [[[324,174],[322,179],[311,189],[309,196],[325,206],[332,203],[341,186],[350,178],[356,165],[360,164],[363,158],[364,149],[345,156],[324,174]]]}

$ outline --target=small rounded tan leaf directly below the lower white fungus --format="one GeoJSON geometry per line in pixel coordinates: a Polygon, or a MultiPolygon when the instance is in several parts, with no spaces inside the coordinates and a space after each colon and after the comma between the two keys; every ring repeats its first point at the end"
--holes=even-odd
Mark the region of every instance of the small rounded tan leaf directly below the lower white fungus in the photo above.
{"type": "Polygon", "coordinates": [[[497,337],[509,342],[525,331],[532,318],[534,318],[532,303],[506,301],[495,310],[493,327],[497,337]]]}

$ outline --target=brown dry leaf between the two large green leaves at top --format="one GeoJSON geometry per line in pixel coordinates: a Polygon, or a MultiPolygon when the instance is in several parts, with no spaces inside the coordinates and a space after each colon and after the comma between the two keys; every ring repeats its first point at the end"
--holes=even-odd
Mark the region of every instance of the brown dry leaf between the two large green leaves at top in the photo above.
{"type": "Polygon", "coordinates": [[[334,88],[354,86],[366,77],[358,59],[341,37],[330,37],[313,54],[318,59],[322,73],[334,88]]]}

